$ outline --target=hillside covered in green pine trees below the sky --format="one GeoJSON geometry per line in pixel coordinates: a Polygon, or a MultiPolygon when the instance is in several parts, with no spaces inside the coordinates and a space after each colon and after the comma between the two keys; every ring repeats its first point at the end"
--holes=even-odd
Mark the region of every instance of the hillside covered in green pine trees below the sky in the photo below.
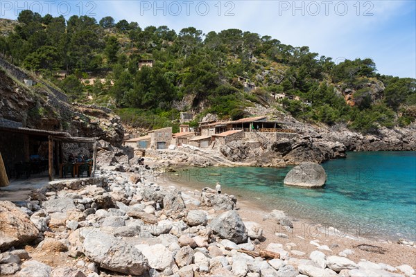
{"type": "Polygon", "coordinates": [[[370,59],[335,64],[267,35],[203,34],[193,27],[177,33],[112,17],[66,20],[30,10],[17,22],[0,20],[4,57],[52,80],[73,100],[110,106],[140,127],[175,124],[180,111],[196,114],[193,124],[207,113],[241,118],[254,103],[360,132],[406,126],[416,116],[415,79],[381,75],[370,59]],[[139,60],[154,63],[139,68],[139,60]],[[255,89],[245,89],[242,79],[255,89]],[[281,93],[301,99],[275,100],[281,93]]]}

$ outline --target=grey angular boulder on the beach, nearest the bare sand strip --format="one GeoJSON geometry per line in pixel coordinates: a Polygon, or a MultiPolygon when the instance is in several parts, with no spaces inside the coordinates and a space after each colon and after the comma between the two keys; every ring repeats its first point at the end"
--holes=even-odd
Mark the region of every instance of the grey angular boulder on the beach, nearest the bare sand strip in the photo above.
{"type": "Polygon", "coordinates": [[[220,238],[231,240],[236,244],[247,242],[248,235],[243,220],[234,210],[218,215],[209,226],[220,238]]]}

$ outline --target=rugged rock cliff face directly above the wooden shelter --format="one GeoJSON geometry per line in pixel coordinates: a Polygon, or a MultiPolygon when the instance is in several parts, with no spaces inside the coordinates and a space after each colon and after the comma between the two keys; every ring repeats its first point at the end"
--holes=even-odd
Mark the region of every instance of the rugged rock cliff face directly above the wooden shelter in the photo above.
{"type": "Polygon", "coordinates": [[[121,145],[123,141],[120,118],[110,109],[71,104],[53,85],[1,58],[0,96],[0,118],[17,121],[25,127],[98,137],[113,145],[121,145]],[[27,85],[25,79],[36,84],[27,85]]]}

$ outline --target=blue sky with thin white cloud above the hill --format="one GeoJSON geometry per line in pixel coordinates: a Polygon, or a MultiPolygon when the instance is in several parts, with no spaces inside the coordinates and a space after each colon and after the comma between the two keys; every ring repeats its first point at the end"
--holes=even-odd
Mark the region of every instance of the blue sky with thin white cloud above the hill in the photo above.
{"type": "Polygon", "coordinates": [[[228,28],[270,35],[281,43],[309,46],[335,62],[370,57],[378,73],[416,78],[416,1],[15,1],[0,0],[0,17],[16,19],[30,9],[67,19],[136,21],[141,28],[193,26],[209,33],[228,28]]]}

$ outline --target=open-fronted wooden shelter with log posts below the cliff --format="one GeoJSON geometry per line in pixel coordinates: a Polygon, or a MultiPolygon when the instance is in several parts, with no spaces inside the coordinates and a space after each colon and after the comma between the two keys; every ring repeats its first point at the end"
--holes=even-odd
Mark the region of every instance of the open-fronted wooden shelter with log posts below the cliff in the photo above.
{"type": "MultiPolygon", "coordinates": [[[[62,143],[94,143],[93,170],[95,171],[96,142],[98,138],[73,137],[67,132],[0,125],[0,151],[3,153],[5,160],[7,158],[5,156],[10,154],[10,156],[14,155],[15,160],[22,158],[19,160],[30,161],[30,141],[48,142],[48,173],[51,181],[54,177],[53,170],[55,169],[55,172],[60,171],[60,163],[62,163],[63,159],[62,143]]],[[[12,161],[12,159],[8,160],[9,162],[12,161]]]]}

